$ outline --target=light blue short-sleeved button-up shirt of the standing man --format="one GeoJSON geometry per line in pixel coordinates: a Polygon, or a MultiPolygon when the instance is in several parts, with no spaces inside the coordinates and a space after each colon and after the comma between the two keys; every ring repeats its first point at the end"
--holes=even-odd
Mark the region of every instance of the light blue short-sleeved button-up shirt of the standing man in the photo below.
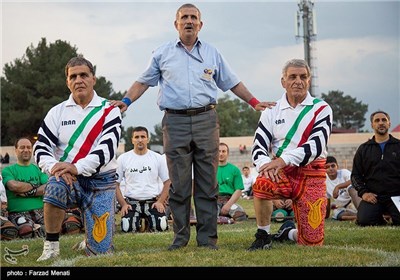
{"type": "Polygon", "coordinates": [[[216,104],[218,89],[225,92],[240,82],[215,47],[198,40],[189,52],[179,39],[157,48],[137,81],[151,87],[160,83],[160,110],[216,104]]]}

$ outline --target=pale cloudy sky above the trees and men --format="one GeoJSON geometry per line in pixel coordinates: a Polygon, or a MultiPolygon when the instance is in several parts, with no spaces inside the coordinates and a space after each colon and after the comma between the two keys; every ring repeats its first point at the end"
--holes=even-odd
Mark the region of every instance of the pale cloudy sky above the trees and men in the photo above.
{"type": "MultiPolygon", "coordinates": [[[[97,76],[115,91],[125,91],[147,66],[152,50],[177,38],[173,22],[185,2],[3,0],[2,69],[41,38],[63,40],[96,65],[97,76]]],[[[277,100],[283,94],[282,65],[304,58],[303,40],[295,36],[298,1],[191,3],[202,12],[199,37],[221,51],[258,99],[277,100]]],[[[400,2],[317,0],[314,12],[317,96],[343,91],[368,105],[366,129],[369,115],[378,109],[391,115],[394,128],[400,123],[400,2]]],[[[157,92],[158,87],[150,88],[131,105],[124,127],[144,125],[154,131],[162,119],[157,92]]]]}

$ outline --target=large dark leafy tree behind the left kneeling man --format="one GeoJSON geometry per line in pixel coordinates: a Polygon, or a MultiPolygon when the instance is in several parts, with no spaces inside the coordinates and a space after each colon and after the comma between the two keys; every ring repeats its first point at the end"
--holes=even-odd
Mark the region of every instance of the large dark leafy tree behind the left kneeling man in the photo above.
{"type": "MultiPolygon", "coordinates": [[[[5,76],[1,77],[2,145],[13,145],[20,136],[33,138],[48,110],[68,98],[64,68],[77,55],[77,48],[65,41],[47,44],[42,38],[36,48],[31,44],[22,58],[5,64],[5,76]]],[[[123,96],[104,77],[97,77],[95,90],[105,98],[123,96]]]]}

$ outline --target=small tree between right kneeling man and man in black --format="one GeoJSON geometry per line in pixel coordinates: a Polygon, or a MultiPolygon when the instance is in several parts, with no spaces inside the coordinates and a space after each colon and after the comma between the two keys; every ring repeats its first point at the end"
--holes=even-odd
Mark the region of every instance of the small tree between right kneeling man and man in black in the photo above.
{"type": "Polygon", "coordinates": [[[325,100],[333,111],[333,127],[342,129],[355,128],[360,132],[365,123],[365,114],[368,105],[357,102],[356,98],[349,95],[343,96],[343,92],[329,91],[328,94],[322,93],[321,98],[325,100]]]}

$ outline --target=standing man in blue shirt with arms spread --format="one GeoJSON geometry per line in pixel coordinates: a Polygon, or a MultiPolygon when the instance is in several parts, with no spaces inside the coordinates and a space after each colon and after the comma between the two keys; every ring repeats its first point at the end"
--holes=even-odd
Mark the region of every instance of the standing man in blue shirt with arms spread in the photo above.
{"type": "Polygon", "coordinates": [[[217,249],[218,89],[231,90],[258,111],[274,103],[259,102],[218,50],[198,38],[203,22],[196,6],[182,5],[174,24],[179,39],[157,48],[150,65],[122,101],[112,104],[123,112],[149,87],[159,84],[157,102],[165,112],[163,142],[172,183],[169,205],[174,240],[169,250],[186,246],[190,239],[192,165],[197,245],[217,249]]]}

